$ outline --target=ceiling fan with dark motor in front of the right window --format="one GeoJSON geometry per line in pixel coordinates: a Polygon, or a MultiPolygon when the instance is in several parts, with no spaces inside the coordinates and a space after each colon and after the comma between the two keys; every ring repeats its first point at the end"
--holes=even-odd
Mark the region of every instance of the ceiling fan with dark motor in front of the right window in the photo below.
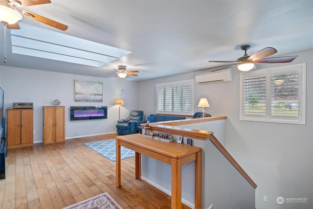
{"type": "MultiPolygon", "coordinates": [[[[235,63],[231,64],[229,66],[224,66],[221,69],[217,70],[223,70],[226,68],[231,68],[234,66],[237,66],[238,70],[241,71],[248,71],[252,70],[254,68],[254,63],[289,63],[292,62],[295,58],[298,56],[285,56],[285,57],[270,57],[266,58],[272,54],[275,54],[277,50],[273,47],[266,47],[251,56],[247,55],[246,50],[250,48],[250,45],[243,45],[241,46],[241,50],[245,50],[244,56],[240,57],[237,59],[237,61],[214,61],[211,60],[209,62],[213,63],[235,63]]],[[[212,70],[212,72],[217,71],[217,70],[212,70]]]]}

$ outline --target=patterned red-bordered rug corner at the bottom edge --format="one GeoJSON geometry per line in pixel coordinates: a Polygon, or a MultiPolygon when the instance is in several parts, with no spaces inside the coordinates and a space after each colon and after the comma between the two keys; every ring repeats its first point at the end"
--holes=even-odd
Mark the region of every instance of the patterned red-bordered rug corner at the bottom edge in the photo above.
{"type": "Polygon", "coordinates": [[[99,194],[64,209],[123,209],[107,193],[99,194]]]}

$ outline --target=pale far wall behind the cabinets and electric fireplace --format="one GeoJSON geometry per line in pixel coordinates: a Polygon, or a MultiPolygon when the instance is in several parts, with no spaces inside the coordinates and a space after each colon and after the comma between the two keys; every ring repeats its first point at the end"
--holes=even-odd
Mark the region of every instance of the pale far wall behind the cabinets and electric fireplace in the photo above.
{"type": "Polygon", "coordinates": [[[13,102],[34,103],[34,142],[43,141],[42,107],[53,105],[54,99],[60,99],[61,106],[66,106],[67,139],[116,132],[118,106],[114,103],[119,97],[125,102],[121,118],[126,118],[130,110],[137,107],[136,82],[5,66],[1,66],[0,75],[0,84],[5,91],[5,109],[13,102]],[[75,79],[103,82],[103,102],[74,102],[75,79]],[[70,121],[70,106],[108,106],[108,119],[70,121]]]}

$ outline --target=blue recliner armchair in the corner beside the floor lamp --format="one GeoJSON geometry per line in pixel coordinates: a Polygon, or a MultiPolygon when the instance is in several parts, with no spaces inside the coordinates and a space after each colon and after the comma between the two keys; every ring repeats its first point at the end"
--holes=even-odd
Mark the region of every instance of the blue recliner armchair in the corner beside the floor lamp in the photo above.
{"type": "Polygon", "coordinates": [[[132,110],[129,117],[124,120],[117,120],[116,132],[117,134],[129,135],[138,133],[136,130],[137,121],[141,121],[143,117],[143,111],[132,110]]]}

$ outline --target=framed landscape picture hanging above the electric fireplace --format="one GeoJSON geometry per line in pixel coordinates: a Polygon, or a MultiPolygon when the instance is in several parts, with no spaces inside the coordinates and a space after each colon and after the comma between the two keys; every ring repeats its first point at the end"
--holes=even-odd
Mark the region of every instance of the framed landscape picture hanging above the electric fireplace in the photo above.
{"type": "Polygon", "coordinates": [[[94,81],[74,81],[75,102],[103,102],[103,83],[94,81]]]}

